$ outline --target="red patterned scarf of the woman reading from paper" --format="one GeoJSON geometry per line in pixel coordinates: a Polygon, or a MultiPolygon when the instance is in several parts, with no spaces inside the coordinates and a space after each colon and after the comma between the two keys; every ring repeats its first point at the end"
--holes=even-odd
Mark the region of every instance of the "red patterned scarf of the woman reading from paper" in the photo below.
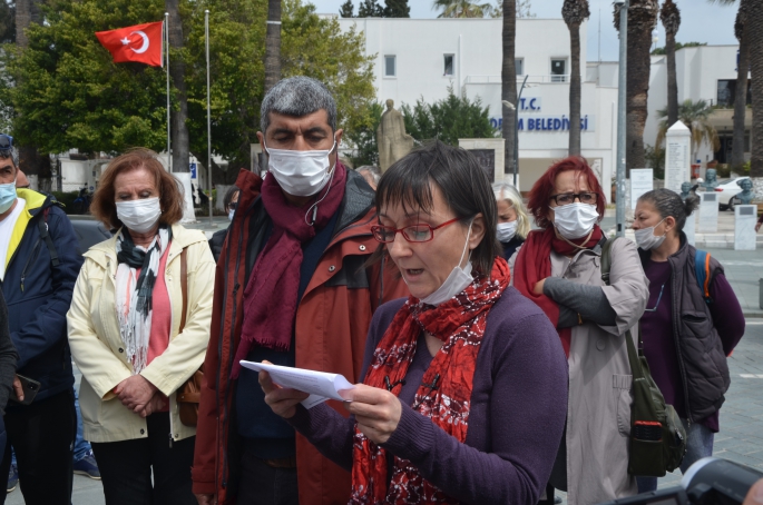
{"type": "MultiPolygon", "coordinates": [[[[399,382],[413,362],[421,331],[438,337],[444,344],[424,373],[413,409],[463,443],[469,427],[477,354],[490,308],[509,285],[509,276],[506,260],[496,258],[490,278],[476,277],[461,294],[438,307],[409,298],[379,343],[363,383],[384,388],[387,379],[397,384],[392,393],[399,395],[402,389],[399,382]]],[[[388,488],[387,452],[358,427],[352,461],[351,504],[457,503],[424,481],[410,462],[399,457],[394,458],[388,488]]]]}

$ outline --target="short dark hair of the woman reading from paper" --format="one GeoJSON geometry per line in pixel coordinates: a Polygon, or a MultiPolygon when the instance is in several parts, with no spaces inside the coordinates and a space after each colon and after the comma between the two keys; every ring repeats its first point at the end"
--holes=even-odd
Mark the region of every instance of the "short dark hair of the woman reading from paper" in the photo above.
{"type": "Polygon", "coordinates": [[[434,205],[436,185],[448,207],[462,224],[481,214],[485,237],[471,254],[475,269],[490,275],[501,248],[496,238],[498,212],[490,181],[470,152],[436,140],[418,148],[393,164],[376,188],[376,211],[382,206],[402,205],[405,211],[430,211],[434,205]]]}

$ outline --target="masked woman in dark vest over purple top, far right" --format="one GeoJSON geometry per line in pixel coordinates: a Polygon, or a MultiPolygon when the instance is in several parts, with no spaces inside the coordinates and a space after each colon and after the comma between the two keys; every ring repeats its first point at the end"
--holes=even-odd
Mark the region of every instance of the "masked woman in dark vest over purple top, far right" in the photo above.
{"type": "MultiPolygon", "coordinates": [[[[640,324],[644,355],[665,403],[673,405],[686,428],[682,473],[713,455],[718,409],[730,385],[726,356],[744,335],[744,315],[723,267],[710,255],[697,255],[683,232],[698,204],[694,195],[682,201],[669,189],[655,189],[638,199],[633,222],[649,279],[640,324]],[[697,259],[706,277],[702,286],[697,259]]],[[[654,491],[657,479],[639,477],[638,488],[654,491]]]]}

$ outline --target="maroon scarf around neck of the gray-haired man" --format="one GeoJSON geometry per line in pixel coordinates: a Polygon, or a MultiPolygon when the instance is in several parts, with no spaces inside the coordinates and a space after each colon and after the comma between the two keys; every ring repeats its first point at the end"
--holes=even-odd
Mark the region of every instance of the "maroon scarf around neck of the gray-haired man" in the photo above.
{"type": "Polygon", "coordinates": [[[307,221],[313,214],[311,207],[325,194],[326,188],[305,206],[295,207],[286,201],[275,177],[265,177],[262,202],[273,220],[273,234],[254,264],[244,290],[244,324],[232,378],[238,377],[238,362],[246,359],[255,344],[276,350],[291,348],[296,306],[300,303],[296,295],[300,289],[302,245],[315,237],[315,229],[325,227],[339,210],[346,179],[346,169],[338,161],[329,195],[317,205],[315,222],[310,226],[307,221]]]}

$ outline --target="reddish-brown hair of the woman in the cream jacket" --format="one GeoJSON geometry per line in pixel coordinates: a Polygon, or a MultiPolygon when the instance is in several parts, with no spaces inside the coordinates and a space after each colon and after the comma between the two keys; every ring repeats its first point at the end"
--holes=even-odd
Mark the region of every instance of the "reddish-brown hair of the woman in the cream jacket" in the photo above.
{"type": "Polygon", "coordinates": [[[157,159],[157,154],[150,149],[133,149],[111,160],[92,196],[90,214],[110,228],[123,226],[117,217],[114,182],[117,176],[133,170],[146,169],[156,178],[156,189],[159,191],[162,216],[159,222],[174,225],[183,218],[183,190],[175,178],[164,169],[157,159]]]}

